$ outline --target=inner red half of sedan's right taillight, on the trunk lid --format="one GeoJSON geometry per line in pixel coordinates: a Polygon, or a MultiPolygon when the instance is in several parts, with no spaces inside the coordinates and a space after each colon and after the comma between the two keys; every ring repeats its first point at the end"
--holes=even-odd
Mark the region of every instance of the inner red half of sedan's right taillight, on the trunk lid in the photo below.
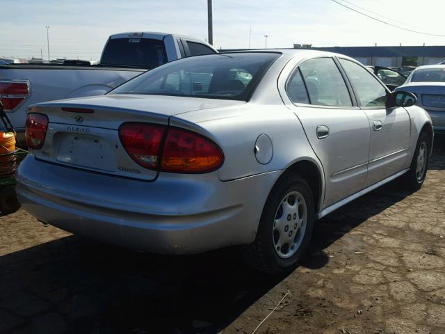
{"type": "Polygon", "coordinates": [[[162,125],[147,123],[124,123],[119,128],[119,137],[124,149],[137,164],[156,169],[165,133],[162,125]]]}

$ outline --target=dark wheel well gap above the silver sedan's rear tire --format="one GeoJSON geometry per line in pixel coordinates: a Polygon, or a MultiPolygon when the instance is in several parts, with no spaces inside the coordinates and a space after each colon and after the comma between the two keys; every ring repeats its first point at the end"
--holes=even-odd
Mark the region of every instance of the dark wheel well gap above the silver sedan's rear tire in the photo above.
{"type": "Polygon", "coordinates": [[[312,161],[300,160],[286,168],[284,174],[286,173],[298,174],[307,181],[314,196],[316,212],[318,212],[321,209],[321,196],[323,194],[323,179],[318,166],[312,161]]]}

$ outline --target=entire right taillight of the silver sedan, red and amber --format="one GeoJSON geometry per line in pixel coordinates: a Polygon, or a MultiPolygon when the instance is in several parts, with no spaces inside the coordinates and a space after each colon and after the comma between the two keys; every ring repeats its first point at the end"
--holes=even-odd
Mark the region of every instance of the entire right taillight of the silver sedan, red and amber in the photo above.
{"type": "Polygon", "coordinates": [[[209,173],[224,162],[216,143],[183,129],[128,122],[121,125],[119,137],[131,159],[149,169],[209,173]]]}

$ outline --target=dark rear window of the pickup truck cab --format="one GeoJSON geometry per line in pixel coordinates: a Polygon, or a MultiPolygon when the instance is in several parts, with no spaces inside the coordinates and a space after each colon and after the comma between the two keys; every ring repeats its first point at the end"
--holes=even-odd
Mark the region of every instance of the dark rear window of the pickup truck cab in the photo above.
{"type": "Polygon", "coordinates": [[[167,63],[162,40],[113,38],[102,53],[101,65],[154,68],[167,63]]]}

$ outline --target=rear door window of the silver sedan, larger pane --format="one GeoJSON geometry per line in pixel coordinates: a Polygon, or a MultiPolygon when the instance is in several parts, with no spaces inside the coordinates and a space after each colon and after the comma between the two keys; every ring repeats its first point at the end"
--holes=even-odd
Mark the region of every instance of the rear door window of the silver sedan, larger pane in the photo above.
{"type": "Polygon", "coordinates": [[[316,58],[300,65],[311,104],[352,106],[348,88],[332,58],[316,58]]]}

